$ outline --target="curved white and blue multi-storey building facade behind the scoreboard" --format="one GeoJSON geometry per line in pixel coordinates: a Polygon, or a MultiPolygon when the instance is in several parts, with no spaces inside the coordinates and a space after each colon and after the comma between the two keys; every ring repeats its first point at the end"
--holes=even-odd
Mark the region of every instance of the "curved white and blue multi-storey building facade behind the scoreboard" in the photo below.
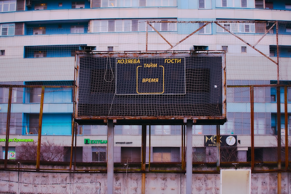
{"type": "MultiPolygon", "coordinates": [[[[283,139],[281,161],[288,162],[290,37],[287,0],[0,1],[0,158],[8,151],[8,159],[36,159],[23,153],[38,141],[41,122],[42,142],[62,150],[53,151],[61,152],[60,158],[43,160],[70,162],[75,131],[72,161],[106,163],[107,126],[76,124],[73,117],[75,52],[92,46],[109,53],[225,52],[227,122],[219,126],[220,161],[229,167],[252,161],[258,168],[276,166],[283,139]]],[[[183,125],[149,123],[146,128],[147,163],[182,162],[183,125]]],[[[192,131],[193,163],[216,163],[217,125],[194,124],[192,131]]],[[[138,124],[115,126],[115,163],[141,162],[141,134],[138,124]]]]}

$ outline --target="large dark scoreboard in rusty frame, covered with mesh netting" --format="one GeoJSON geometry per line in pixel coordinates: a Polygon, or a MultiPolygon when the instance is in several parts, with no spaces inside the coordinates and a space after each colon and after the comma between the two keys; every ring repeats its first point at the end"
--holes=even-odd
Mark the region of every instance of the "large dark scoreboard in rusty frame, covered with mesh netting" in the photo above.
{"type": "Polygon", "coordinates": [[[77,69],[77,118],[223,116],[222,53],[79,53],[77,69]]]}

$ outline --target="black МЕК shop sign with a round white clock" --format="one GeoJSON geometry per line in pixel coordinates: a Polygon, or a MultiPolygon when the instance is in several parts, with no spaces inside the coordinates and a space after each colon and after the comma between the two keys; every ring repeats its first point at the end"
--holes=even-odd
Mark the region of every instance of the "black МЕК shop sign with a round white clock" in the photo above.
{"type": "MultiPolygon", "coordinates": [[[[204,146],[217,146],[217,135],[205,135],[204,146]]],[[[237,136],[221,135],[220,146],[237,146],[237,136]]]]}

